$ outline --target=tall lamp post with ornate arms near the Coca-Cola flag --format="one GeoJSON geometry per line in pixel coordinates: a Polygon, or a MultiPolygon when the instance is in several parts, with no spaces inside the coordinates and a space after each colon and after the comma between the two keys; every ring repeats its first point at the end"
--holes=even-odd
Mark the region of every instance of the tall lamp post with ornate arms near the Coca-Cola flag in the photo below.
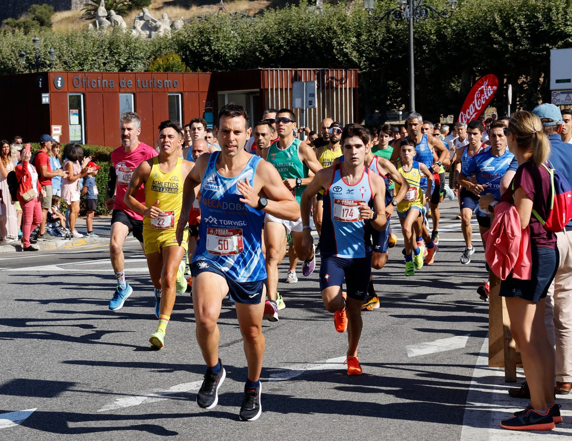
{"type": "Polygon", "coordinates": [[[414,71],[414,49],[413,49],[413,23],[419,20],[425,21],[428,18],[451,18],[458,0],[447,0],[450,10],[438,11],[434,7],[425,5],[423,0],[396,0],[398,6],[388,10],[383,15],[372,15],[375,7],[375,0],[363,0],[367,10],[368,19],[372,25],[377,25],[382,20],[390,19],[401,22],[407,20],[409,23],[409,111],[415,111],[415,71],[414,71]]]}

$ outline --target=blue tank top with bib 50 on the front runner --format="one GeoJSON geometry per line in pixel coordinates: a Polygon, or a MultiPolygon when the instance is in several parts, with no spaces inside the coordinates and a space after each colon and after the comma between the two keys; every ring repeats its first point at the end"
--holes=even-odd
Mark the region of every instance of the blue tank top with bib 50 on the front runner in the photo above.
{"type": "Polygon", "coordinates": [[[253,186],[256,167],[262,158],[252,155],[241,173],[233,178],[219,174],[212,153],[201,182],[201,223],[193,263],[206,260],[237,282],[267,278],[261,248],[264,211],[251,209],[242,198],[237,183],[248,179],[253,186]]]}

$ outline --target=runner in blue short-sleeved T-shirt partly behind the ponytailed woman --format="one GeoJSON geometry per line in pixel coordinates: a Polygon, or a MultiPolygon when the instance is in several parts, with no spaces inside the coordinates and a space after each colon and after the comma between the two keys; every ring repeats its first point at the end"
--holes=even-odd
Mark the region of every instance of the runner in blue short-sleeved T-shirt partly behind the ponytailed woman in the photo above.
{"type": "MultiPolygon", "coordinates": [[[[472,121],[471,121],[472,123],[472,121]]],[[[469,127],[471,127],[469,123],[469,127]]],[[[469,129],[472,133],[472,129],[469,129]]],[[[457,177],[459,185],[463,189],[467,189],[475,199],[467,199],[467,203],[463,205],[463,210],[471,208],[472,202],[475,206],[472,210],[476,210],[476,220],[479,223],[480,238],[483,242],[483,249],[486,248],[484,233],[491,228],[491,214],[488,210],[479,207],[479,198],[486,194],[492,194],[495,199],[501,199],[501,180],[507,170],[518,169],[517,159],[509,150],[506,150],[507,139],[503,131],[503,123],[501,121],[491,121],[489,129],[489,137],[491,146],[480,151],[463,167],[461,173],[457,177]],[[471,182],[470,177],[475,177],[476,183],[471,182]]],[[[472,214],[472,211],[471,211],[472,214]]],[[[482,300],[488,300],[488,280],[477,289],[482,300]]]]}

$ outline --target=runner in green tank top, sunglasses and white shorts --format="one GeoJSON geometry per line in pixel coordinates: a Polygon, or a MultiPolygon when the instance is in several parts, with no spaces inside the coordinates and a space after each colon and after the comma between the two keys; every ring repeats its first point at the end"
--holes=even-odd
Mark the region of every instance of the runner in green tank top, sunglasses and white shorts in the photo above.
{"type": "MultiPolygon", "coordinates": [[[[280,109],[277,112],[276,128],[279,140],[264,150],[263,158],[278,170],[284,185],[300,203],[304,189],[312,181],[312,178],[308,177],[308,170],[316,173],[322,167],[312,147],[294,137],[296,116],[292,110],[280,109]]],[[[264,308],[264,315],[271,322],[277,322],[278,311],[286,307],[284,299],[277,292],[277,287],[278,264],[284,257],[287,234],[292,234],[297,257],[304,260],[302,274],[306,277],[309,276],[315,266],[316,258],[313,250],[308,252],[302,247],[302,219],[299,218],[292,222],[291,220],[275,218],[268,213],[264,221],[266,270],[268,272],[268,300],[264,308]]]]}

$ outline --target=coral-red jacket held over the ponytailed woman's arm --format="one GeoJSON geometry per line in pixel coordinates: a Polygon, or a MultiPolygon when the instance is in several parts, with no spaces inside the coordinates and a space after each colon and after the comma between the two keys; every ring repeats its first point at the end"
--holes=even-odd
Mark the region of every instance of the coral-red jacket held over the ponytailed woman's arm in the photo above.
{"type": "Polygon", "coordinates": [[[491,229],[483,235],[486,242],[484,256],[492,272],[502,280],[512,272],[515,279],[530,280],[532,253],[530,228],[522,229],[516,207],[501,202],[495,207],[491,229]]]}

